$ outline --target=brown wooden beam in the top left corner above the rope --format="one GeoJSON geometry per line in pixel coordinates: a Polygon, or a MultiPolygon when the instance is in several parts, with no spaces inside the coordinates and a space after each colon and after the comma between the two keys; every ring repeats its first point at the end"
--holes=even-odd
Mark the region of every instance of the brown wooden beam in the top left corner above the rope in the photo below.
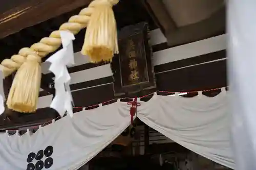
{"type": "MultiPolygon", "coordinates": [[[[87,6],[91,1],[27,0],[22,4],[13,3],[12,7],[8,6],[6,12],[0,13],[0,38],[17,33],[22,29],[34,26],[37,23],[70,12],[79,7],[87,6]]],[[[2,11],[5,10],[2,9],[2,11]]]]}

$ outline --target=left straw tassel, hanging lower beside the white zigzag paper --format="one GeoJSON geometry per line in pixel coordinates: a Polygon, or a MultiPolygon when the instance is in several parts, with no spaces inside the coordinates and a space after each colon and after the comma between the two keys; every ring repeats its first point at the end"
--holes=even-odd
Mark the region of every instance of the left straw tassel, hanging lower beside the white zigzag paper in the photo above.
{"type": "Polygon", "coordinates": [[[41,82],[41,58],[28,55],[19,67],[10,89],[7,106],[18,112],[35,112],[41,82]]]}

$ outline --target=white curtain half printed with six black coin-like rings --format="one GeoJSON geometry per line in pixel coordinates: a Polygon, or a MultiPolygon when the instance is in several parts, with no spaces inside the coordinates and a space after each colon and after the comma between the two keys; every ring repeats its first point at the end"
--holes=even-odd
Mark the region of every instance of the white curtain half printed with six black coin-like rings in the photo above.
{"type": "MultiPolygon", "coordinates": [[[[73,118],[63,117],[34,134],[0,134],[0,169],[24,170],[29,153],[37,154],[48,146],[53,147],[49,169],[78,169],[113,141],[130,121],[129,106],[116,102],[76,113],[73,118]]],[[[46,159],[44,155],[40,160],[45,163],[46,159]]],[[[32,163],[36,165],[40,160],[33,159],[32,163]]]]}

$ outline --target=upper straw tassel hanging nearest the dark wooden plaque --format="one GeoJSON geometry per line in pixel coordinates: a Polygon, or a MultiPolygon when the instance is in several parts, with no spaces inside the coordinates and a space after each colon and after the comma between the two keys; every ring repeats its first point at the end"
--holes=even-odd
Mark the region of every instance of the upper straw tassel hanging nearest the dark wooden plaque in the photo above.
{"type": "Polygon", "coordinates": [[[91,62],[112,61],[114,54],[118,54],[117,28],[113,5],[118,0],[96,0],[89,7],[94,8],[86,30],[84,44],[81,50],[88,55],[91,62]]]}

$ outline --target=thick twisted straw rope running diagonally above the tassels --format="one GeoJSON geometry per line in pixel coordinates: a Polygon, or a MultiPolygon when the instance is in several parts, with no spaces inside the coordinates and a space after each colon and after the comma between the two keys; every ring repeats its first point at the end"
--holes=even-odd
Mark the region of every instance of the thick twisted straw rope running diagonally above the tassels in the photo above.
{"type": "Polygon", "coordinates": [[[119,0],[95,0],[87,8],[80,11],[78,15],[70,17],[69,21],[63,23],[58,31],[53,31],[49,37],[42,38],[39,42],[30,47],[20,49],[18,55],[13,55],[10,59],[4,59],[0,64],[4,76],[7,77],[16,71],[27,59],[28,56],[43,58],[49,53],[55,52],[61,45],[60,31],[70,31],[77,34],[81,29],[86,28],[90,21],[90,16],[94,7],[98,5],[116,5],[119,0]]]}

